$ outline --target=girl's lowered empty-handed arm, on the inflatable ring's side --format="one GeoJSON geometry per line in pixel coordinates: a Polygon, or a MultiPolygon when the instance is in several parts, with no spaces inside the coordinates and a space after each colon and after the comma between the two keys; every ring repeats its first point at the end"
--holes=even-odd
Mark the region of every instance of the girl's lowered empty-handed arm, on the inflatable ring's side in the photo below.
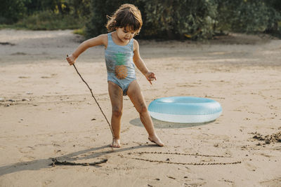
{"type": "Polygon", "coordinates": [[[151,81],[156,81],[156,76],[153,72],[150,72],[148,68],[145,66],[145,62],[141,59],[140,50],[138,46],[138,41],[133,40],[133,63],[136,64],[136,67],[141,71],[141,73],[148,79],[150,84],[151,81]]]}

